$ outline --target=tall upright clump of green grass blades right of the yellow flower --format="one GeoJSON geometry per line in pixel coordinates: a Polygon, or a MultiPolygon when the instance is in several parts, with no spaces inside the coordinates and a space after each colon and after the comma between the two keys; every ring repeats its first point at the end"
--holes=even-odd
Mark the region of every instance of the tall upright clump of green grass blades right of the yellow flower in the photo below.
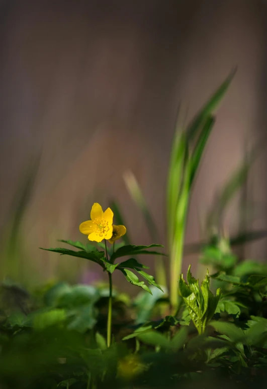
{"type": "Polygon", "coordinates": [[[170,302],[178,306],[177,282],[182,269],[183,244],[192,187],[205,146],[214,126],[214,110],[227,91],[233,74],[216,90],[186,130],[176,124],[167,182],[167,226],[170,253],[170,302]]]}

